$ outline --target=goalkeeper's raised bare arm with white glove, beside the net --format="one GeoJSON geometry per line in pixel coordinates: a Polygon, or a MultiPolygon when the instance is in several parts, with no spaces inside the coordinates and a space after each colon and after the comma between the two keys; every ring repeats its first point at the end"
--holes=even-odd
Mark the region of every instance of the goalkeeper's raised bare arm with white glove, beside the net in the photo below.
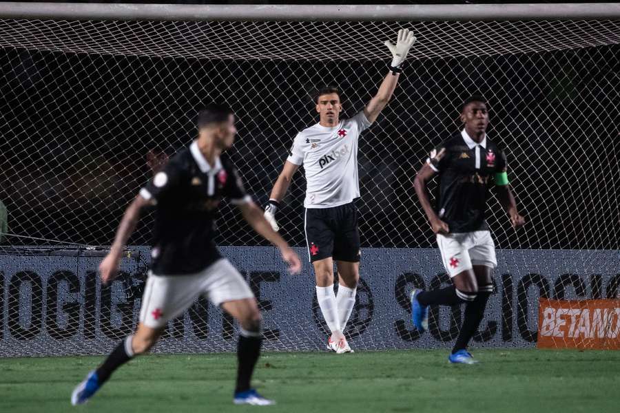
{"type": "Polygon", "coordinates": [[[415,36],[413,32],[408,29],[401,29],[398,31],[398,38],[396,44],[393,45],[390,41],[385,41],[385,45],[389,47],[392,52],[393,60],[390,65],[390,72],[385,76],[377,94],[371,99],[371,101],[364,107],[364,115],[371,123],[377,120],[379,114],[384,107],[388,104],[396,85],[398,78],[400,77],[400,65],[406,59],[407,53],[411,45],[415,43],[415,36]]]}

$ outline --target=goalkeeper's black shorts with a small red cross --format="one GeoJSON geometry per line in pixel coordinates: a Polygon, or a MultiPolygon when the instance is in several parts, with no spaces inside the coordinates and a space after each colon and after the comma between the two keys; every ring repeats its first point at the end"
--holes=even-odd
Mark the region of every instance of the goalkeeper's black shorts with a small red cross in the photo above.
{"type": "Polygon", "coordinates": [[[333,208],[307,208],[304,226],[310,262],[328,257],[360,262],[358,209],[353,202],[333,208]]]}

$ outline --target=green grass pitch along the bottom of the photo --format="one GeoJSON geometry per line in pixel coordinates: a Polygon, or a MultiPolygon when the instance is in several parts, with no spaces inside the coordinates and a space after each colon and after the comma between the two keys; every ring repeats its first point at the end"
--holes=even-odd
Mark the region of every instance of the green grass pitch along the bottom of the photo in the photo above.
{"type": "Polygon", "coordinates": [[[444,350],[267,353],[254,384],[273,407],[231,404],[235,354],[150,355],[118,370],[87,405],[70,393],[102,357],[0,359],[0,412],[615,412],[620,352],[444,350]]]}

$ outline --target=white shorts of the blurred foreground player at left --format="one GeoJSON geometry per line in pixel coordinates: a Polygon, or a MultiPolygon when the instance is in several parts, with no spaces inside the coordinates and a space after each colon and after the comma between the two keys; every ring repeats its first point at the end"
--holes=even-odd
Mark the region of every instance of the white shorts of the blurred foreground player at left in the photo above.
{"type": "Polygon", "coordinates": [[[220,259],[200,273],[155,275],[149,273],[140,309],[140,322],[159,328],[183,314],[203,295],[216,306],[235,299],[254,298],[254,294],[228,260],[220,259]]]}

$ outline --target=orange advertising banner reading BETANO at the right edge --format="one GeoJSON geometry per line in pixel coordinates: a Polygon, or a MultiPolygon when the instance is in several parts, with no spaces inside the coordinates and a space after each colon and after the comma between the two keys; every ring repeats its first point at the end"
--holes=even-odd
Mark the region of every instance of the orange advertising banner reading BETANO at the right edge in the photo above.
{"type": "Polygon", "coordinates": [[[537,347],[620,350],[620,300],[539,299],[537,347]]]}

